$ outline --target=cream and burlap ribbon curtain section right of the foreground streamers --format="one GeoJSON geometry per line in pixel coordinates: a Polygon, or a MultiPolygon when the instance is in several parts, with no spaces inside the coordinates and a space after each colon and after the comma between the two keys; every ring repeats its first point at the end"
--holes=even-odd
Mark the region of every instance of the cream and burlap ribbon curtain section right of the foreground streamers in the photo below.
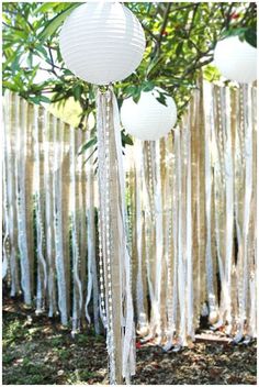
{"type": "Polygon", "coordinates": [[[143,342],[178,351],[194,340],[201,316],[235,342],[256,336],[255,96],[254,86],[201,81],[167,139],[128,151],[143,342]]]}

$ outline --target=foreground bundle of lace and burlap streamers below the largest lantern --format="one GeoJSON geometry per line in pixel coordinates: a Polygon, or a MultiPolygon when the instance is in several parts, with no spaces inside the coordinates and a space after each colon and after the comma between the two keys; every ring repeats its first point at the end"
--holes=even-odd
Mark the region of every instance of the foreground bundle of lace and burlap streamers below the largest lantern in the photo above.
{"type": "Polygon", "coordinates": [[[101,283],[101,302],[104,303],[105,299],[111,383],[119,383],[121,376],[128,382],[130,375],[135,373],[135,329],[126,246],[122,145],[119,111],[112,88],[104,93],[98,90],[97,102],[98,175],[99,186],[104,188],[104,192],[100,189],[99,195],[100,277],[104,278],[101,283]]]}

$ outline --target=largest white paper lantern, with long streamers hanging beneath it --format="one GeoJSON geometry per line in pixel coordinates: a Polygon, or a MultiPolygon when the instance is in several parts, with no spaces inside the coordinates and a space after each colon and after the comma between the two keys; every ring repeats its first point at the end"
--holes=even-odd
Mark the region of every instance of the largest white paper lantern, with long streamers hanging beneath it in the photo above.
{"type": "Polygon", "coordinates": [[[145,35],[137,18],[114,2],[87,2],[71,12],[60,32],[66,66],[78,77],[108,85],[128,77],[139,65],[145,35]]]}

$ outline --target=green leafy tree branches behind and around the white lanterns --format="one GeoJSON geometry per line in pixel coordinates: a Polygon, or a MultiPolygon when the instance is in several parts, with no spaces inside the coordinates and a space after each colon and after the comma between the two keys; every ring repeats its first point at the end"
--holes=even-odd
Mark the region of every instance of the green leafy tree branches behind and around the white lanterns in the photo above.
{"type": "MultiPolygon", "coordinates": [[[[80,2],[3,3],[3,89],[34,103],[59,106],[74,99],[80,124],[94,110],[93,87],[68,70],[60,56],[58,34],[67,15],[80,2]]],[[[201,68],[217,76],[213,48],[219,38],[238,34],[256,45],[255,2],[130,2],[147,40],[144,59],[127,79],[116,82],[119,103],[142,90],[161,87],[173,96],[179,117],[196,86],[201,68]]],[[[165,96],[159,101],[165,103],[165,96]]]]}

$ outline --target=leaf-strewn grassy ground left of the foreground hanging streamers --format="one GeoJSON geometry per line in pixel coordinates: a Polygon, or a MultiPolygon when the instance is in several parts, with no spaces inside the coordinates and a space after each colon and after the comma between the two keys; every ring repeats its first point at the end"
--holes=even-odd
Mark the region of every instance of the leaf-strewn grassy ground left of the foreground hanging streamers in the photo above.
{"type": "Polygon", "coordinates": [[[23,310],[21,305],[20,310],[15,302],[7,309],[3,308],[2,334],[4,385],[106,380],[108,360],[102,335],[94,336],[88,330],[72,339],[69,330],[61,329],[58,322],[36,317],[30,310],[23,310]]]}

